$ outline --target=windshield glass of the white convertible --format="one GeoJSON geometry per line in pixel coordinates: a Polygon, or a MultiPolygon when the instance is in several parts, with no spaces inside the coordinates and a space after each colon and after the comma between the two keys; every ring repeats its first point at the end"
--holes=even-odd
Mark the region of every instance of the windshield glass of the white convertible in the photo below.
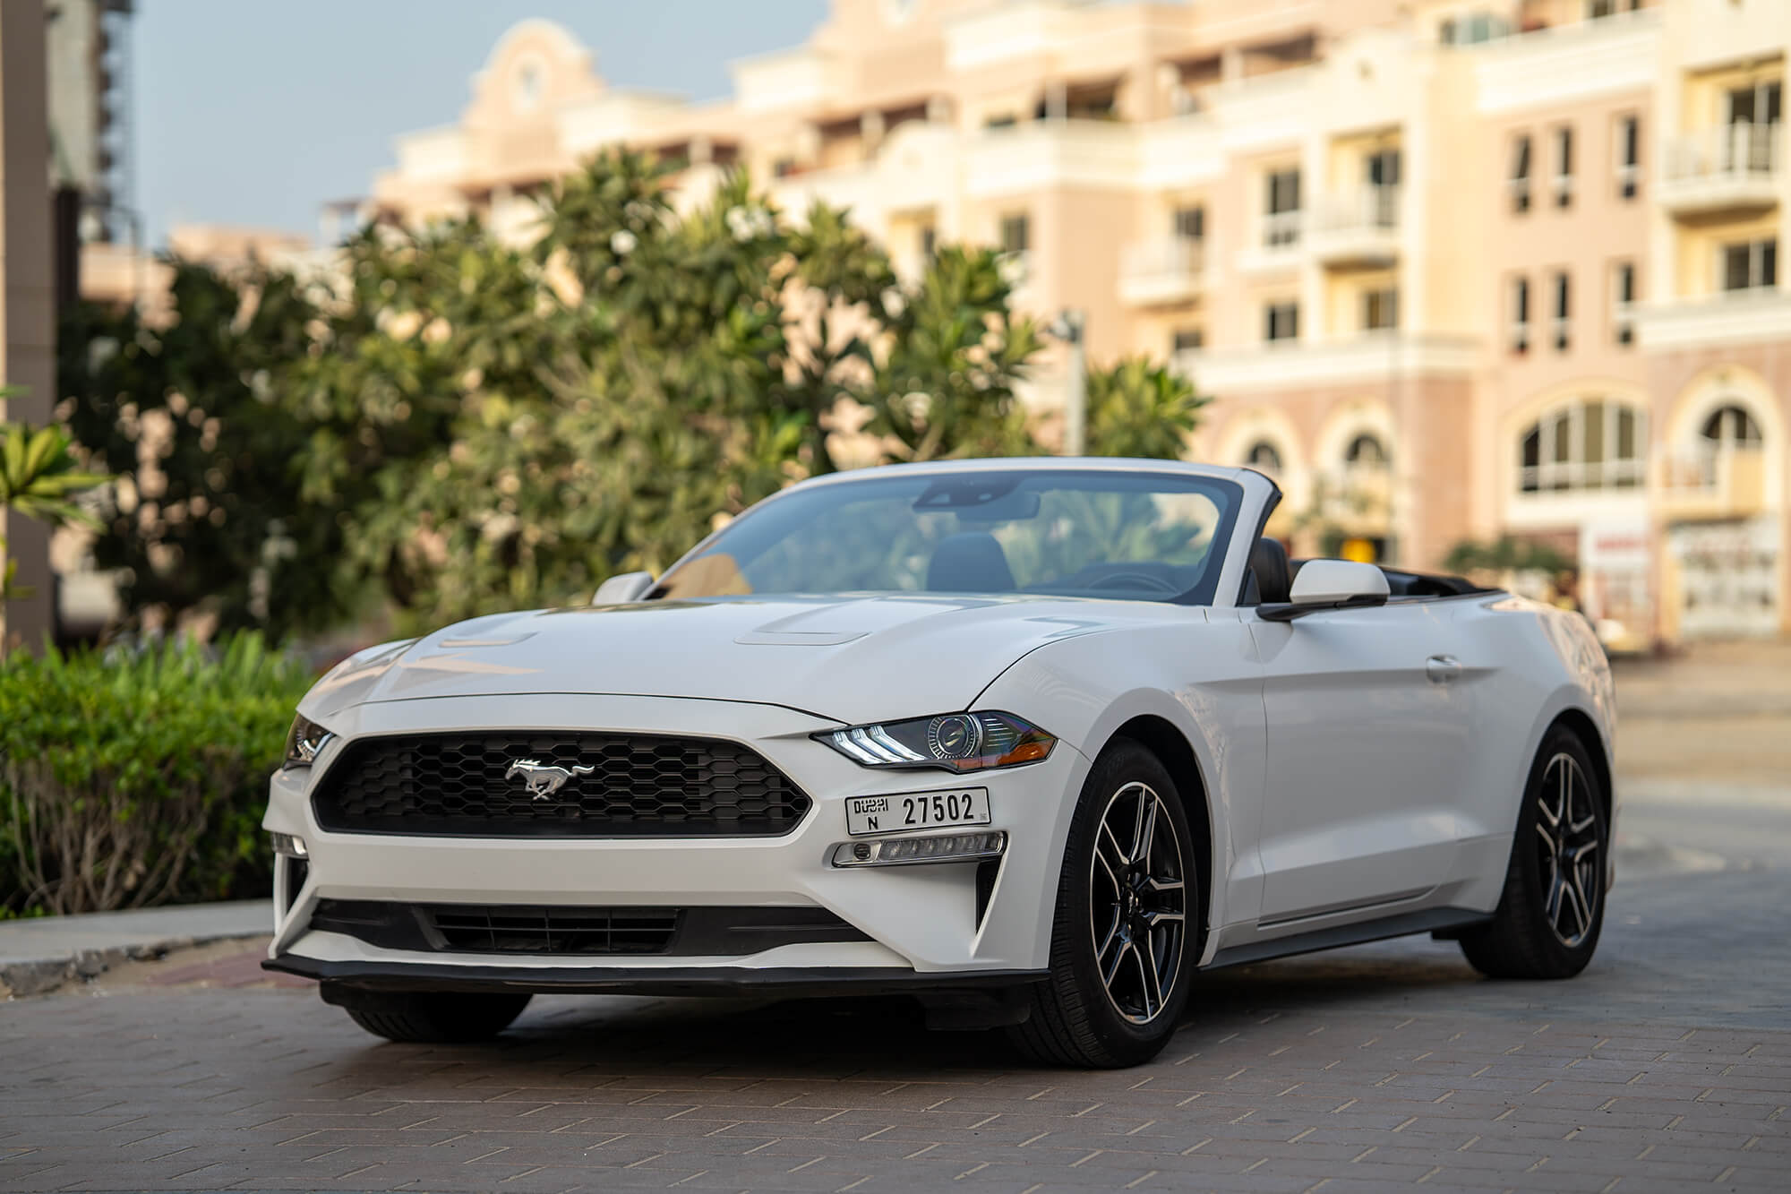
{"type": "Polygon", "coordinates": [[[879,475],[758,506],[656,597],[1053,593],[1211,604],[1243,491],[1173,473],[879,475]]]}

